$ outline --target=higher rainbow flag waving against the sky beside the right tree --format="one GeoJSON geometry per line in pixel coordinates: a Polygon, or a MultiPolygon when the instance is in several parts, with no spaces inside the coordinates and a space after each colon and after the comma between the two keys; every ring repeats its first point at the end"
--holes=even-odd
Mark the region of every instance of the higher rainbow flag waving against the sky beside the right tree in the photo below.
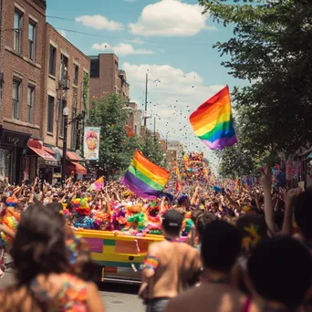
{"type": "Polygon", "coordinates": [[[190,122],[195,135],[211,150],[223,150],[234,145],[237,138],[228,86],[194,111],[190,122]]]}

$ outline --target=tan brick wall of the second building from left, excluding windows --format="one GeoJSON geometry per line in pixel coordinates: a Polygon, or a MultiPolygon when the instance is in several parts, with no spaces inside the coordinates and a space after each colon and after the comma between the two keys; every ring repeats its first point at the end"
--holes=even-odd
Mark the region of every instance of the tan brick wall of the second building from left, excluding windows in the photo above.
{"type": "MultiPolygon", "coordinates": [[[[62,148],[63,138],[60,135],[62,104],[61,99],[66,100],[69,116],[68,118],[75,118],[84,109],[84,97],[83,97],[83,82],[84,73],[89,75],[90,60],[86,57],[77,47],[73,46],[66,38],[61,36],[57,30],[47,24],[46,34],[46,67],[44,70],[45,87],[44,87],[44,101],[43,109],[43,123],[41,128],[41,136],[45,143],[51,146],[57,146],[62,148]],[[49,54],[50,46],[56,48],[56,64],[55,75],[49,74],[49,54]],[[60,68],[61,68],[61,55],[68,58],[68,89],[59,88],[60,82],[60,68]],[[75,81],[74,68],[78,67],[78,81],[75,81]],[[53,132],[47,130],[47,116],[48,116],[48,96],[53,97],[54,101],[54,120],[53,120],[53,132]],[[75,110],[76,109],[76,113],[75,110]]],[[[76,140],[77,133],[72,133],[74,122],[68,125],[68,149],[76,150],[75,144],[72,140],[76,140]]]]}

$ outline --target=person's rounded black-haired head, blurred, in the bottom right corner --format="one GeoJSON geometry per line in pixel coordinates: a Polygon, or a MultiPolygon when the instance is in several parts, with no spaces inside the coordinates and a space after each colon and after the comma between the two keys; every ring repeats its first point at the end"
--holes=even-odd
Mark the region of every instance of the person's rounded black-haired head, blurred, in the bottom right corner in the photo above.
{"type": "Polygon", "coordinates": [[[255,246],[247,271],[254,301],[244,311],[296,311],[312,283],[312,258],[294,238],[276,236],[255,246]]]}

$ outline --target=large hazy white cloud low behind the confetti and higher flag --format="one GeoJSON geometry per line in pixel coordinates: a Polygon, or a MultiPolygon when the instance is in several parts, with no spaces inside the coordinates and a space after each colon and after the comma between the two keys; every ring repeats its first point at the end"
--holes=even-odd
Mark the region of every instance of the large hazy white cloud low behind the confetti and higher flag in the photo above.
{"type": "MultiPolygon", "coordinates": [[[[218,92],[224,85],[205,85],[196,72],[184,73],[180,68],[169,65],[134,65],[128,62],[122,66],[130,83],[130,97],[139,99],[139,109],[144,109],[145,77],[149,73],[148,116],[158,114],[156,129],[162,138],[168,133],[169,140],[180,140],[185,149],[205,151],[207,148],[192,131],[189,117],[206,99],[218,92]]],[[[153,118],[148,127],[153,130],[153,118]]],[[[212,154],[208,151],[209,157],[212,154]]],[[[208,156],[207,154],[207,156],[208,156]]]]}

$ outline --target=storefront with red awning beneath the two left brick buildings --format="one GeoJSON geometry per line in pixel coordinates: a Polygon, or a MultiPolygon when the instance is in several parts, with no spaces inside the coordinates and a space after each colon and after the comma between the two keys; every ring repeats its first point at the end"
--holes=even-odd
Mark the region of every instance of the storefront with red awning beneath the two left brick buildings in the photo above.
{"type": "Polygon", "coordinates": [[[26,156],[26,178],[33,181],[36,176],[40,181],[52,183],[55,168],[59,167],[59,161],[55,157],[55,151],[43,145],[41,140],[29,139],[26,156]]]}

